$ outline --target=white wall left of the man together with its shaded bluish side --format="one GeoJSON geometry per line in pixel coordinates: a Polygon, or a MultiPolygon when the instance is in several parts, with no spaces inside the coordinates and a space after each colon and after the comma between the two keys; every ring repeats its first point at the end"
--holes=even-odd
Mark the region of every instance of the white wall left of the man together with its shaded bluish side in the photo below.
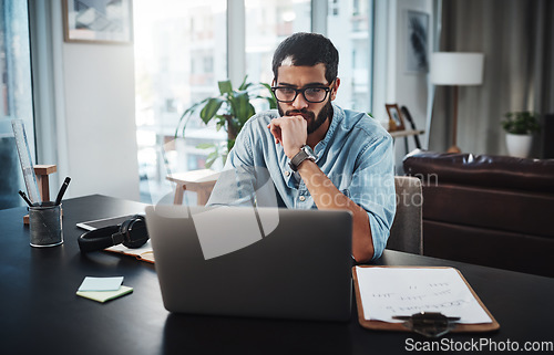
{"type": "Polygon", "coordinates": [[[38,163],[58,165],[51,196],[70,176],[65,197],[138,200],[133,45],[64,42],[62,0],[30,10],[38,163]]]}

